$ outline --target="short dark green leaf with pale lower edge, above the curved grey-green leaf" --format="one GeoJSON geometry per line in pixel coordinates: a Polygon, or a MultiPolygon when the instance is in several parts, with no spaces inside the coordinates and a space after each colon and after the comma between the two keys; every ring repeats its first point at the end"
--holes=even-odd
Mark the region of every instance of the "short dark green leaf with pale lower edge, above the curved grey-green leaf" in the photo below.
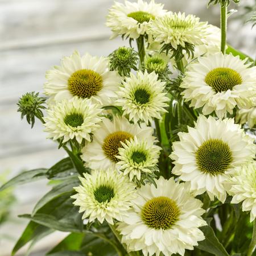
{"type": "Polygon", "coordinates": [[[64,158],[57,162],[47,171],[48,179],[65,179],[66,177],[76,175],[76,169],[73,166],[71,158],[64,158]]]}

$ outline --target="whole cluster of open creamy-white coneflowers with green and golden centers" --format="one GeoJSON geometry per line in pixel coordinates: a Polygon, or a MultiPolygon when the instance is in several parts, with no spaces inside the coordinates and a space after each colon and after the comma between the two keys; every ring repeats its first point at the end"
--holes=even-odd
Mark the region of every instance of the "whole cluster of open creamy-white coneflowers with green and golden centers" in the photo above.
{"type": "MultiPolygon", "coordinates": [[[[243,201],[242,209],[251,210],[254,220],[256,148],[253,138],[228,114],[238,107],[236,122],[255,125],[255,105],[249,99],[256,97],[256,68],[219,52],[218,28],[193,15],[167,12],[154,0],[115,3],[106,24],[113,38],[145,38],[146,61],[153,45],[159,55],[150,60],[155,71],[141,63],[139,70],[125,77],[110,68],[108,57],[78,52],[46,73],[44,93],[49,99],[44,125],[49,138],[79,143],[81,159],[92,170],[80,177],[81,185],[72,196],[84,212],[82,218],[118,222],[127,250],[145,256],[184,255],[185,249],[193,250],[204,240],[199,228],[207,225],[201,217],[205,210],[195,196],[205,192],[210,200],[217,197],[222,203],[229,193],[232,203],[243,201]],[[177,179],[164,179],[158,166],[163,148],[151,124],[158,125],[170,111],[171,93],[158,74],[157,61],[163,55],[161,47],[178,51],[188,45],[196,60],[183,52],[187,67],[181,96],[203,115],[188,132],[178,133],[179,141],[170,151],[171,176],[177,179]],[[110,112],[109,106],[121,116],[110,112]],[[204,116],[214,112],[217,117],[204,116]]],[[[168,69],[165,60],[163,71],[168,69]]]]}

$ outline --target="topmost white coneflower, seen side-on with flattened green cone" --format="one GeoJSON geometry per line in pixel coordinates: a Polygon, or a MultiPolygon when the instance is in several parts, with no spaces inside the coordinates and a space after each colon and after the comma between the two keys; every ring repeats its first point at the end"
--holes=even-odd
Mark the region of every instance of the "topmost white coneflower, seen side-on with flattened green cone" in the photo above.
{"type": "Polygon", "coordinates": [[[106,17],[106,26],[113,31],[111,39],[118,35],[137,39],[140,35],[147,33],[150,20],[164,14],[166,14],[166,10],[163,10],[163,5],[155,3],[154,0],[149,3],[142,0],[138,0],[138,2],[125,1],[125,4],[115,2],[106,17]]]}

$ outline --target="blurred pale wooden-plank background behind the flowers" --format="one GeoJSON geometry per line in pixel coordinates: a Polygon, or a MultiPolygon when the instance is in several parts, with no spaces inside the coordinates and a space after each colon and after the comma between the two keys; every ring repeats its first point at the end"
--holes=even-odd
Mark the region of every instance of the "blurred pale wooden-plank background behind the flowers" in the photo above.
{"type": "MultiPolygon", "coordinates": [[[[122,1],[122,0],[119,0],[122,1]]],[[[162,0],[165,9],[195,14],[202,21],[219,26],[217,6],[207,9],[207,0],[162,0]]],[[[121,38],[109,40],[105,16],[112,0],[0,0],[0,184],[20,171],[51,167],[65,155],[46,140],[43,126],[30,129],[20,121],[16,102],[26,92],[43,90],[44,75],[63,56],[77,49],[91,55],[109,55],[127,45],[121,38]]],[[[247,55],[256,56],[256,27],[244,24],[255,0],[241,0],[228,22],[228,42],[247,55]]],[[[47,181],[36,181],[0,193],[0,256],[11,249],[27,220],[18,214],[30,213],[35,202],[49,190],[47,181]]],[[[66,234],[55,232],[40,241],[31,255],[43,256],[66,234]]],[[[26,248],[18,255],[26,255],[26,248]]]]}

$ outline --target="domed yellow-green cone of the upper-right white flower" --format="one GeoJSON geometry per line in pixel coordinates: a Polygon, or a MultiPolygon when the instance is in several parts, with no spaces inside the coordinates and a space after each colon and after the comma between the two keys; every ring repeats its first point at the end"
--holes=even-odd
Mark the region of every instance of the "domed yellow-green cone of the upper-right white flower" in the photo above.
{"type": "Polygon", "coordinates": [[[242,77],[231,68],[214,68],[205,76],[205,82],[215,92],[226,92],[235,85],[242,84],[242,77]]]}

